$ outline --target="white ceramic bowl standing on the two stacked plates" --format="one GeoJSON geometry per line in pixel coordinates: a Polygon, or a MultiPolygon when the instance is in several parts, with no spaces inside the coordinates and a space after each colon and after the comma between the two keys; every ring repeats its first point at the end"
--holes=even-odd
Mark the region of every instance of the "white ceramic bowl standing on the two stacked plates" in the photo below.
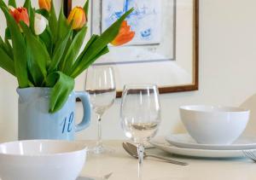
{"type": "Polygon", "coordinates": [[[180,115],[189,135],[203,144],[231,144],[241,136],[250,111],[240,107],[183,106],[180,115]]]}

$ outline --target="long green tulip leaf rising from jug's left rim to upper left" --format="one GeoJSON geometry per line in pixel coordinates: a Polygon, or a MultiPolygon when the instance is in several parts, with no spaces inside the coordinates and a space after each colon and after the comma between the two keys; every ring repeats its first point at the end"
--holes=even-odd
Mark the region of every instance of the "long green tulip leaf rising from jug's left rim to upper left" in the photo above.
{"type": "Polygon", "coordinates": [[[28,86],[27,68],[26,68],[26,44],[20,32],[20,27],[17,25],[15,19],[9,14],[9,10],[0,7],[6,17],[7,24],[12,38],[13,53],[15,60],[15,74],[18,78],[20,88],[28,86]]]}

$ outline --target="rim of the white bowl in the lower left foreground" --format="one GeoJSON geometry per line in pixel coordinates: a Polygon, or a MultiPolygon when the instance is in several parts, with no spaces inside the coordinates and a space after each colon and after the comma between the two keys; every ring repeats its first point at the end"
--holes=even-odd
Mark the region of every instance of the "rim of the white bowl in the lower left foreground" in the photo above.
{"type": "Polygon", "coordinates": [[[87,153],[88,147],[83,143],[79,141],[67,141],[67,140],[51,140],[51,139],[33,139],[33,140],[20,140],[20,141],[13,141],[13,142],[3,142],[0,143],[0,147],[3,145],[8,145],[11,143],[19,143],[19,142],[65,142],[70,144],[79,144],[81,145],[81,148],[75,151],[69,151],[69,152],[62,152],[62,153],[54,153],[54,154],[4,154],[0,152],[0,156],[13,156],[13,157],[53,157],[53,156],[63,156],[63,155],[71,155],[71,154],[77,154],[81,152],[87,153]]]}

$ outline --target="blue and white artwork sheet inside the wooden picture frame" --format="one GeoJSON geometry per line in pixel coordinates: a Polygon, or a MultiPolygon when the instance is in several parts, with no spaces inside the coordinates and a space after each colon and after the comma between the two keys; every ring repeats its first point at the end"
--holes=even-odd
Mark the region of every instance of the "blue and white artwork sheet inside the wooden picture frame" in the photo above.
{"type": "Polygon", "coordinates": [[[131,8],[135,10],[126,20],[136,35],[129,45],[160,44],[161,1],[158,0],[102,0],[102,31],[131,8]]]}

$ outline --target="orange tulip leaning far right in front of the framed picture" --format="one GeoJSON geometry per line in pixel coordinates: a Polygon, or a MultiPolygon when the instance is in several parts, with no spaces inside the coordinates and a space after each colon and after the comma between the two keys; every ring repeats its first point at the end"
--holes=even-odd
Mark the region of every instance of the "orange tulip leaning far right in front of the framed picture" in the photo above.
{"type": "Polygon", "coordinates": [[[134,38],[135,32],[131,31],[131,26],[128,26],[128,23],[126,20],[123,21],[120,29],[119,29],[119,34],[116,36],[116,38],[113,39],[111,44],[114,46],[119,46],[126,44],[134,38]]]}

